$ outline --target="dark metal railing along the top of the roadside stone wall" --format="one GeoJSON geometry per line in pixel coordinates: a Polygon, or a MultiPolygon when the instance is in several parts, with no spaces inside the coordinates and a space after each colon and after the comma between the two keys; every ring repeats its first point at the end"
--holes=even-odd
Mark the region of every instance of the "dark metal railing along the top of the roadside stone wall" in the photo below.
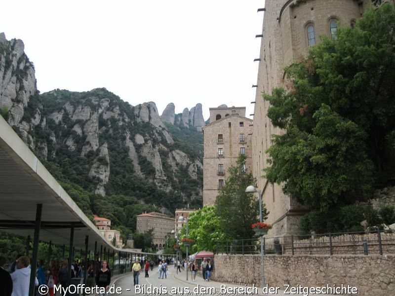
{"type": "MultiPolygon", "coordinates": [[[[374,230],[314,235],[264,237],[265,254],[372,255],[395,254],[395,232],[374,230]]],[[[260,239],[218,241],[216,254],[260,254],[260,239]]]]}

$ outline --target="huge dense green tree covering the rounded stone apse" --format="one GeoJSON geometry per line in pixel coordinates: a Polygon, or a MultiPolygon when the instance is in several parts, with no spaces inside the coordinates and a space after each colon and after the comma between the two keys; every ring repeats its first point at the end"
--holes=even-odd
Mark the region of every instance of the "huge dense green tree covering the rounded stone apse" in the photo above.
{"type": "Polygon", "coordinates": [[[268,149],[272,183],[313,209],[351,204],[394,174],[394,6],[367,10],[286,69],[288,89],[265,95],[284,134],[268,149]]]}

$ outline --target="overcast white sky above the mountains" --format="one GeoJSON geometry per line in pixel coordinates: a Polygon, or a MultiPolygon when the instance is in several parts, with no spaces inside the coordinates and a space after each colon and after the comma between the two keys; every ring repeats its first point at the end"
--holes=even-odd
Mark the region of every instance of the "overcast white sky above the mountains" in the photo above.
{"type": "Polygon", "coordinates": [[[41,93],[105,87],[162,113],[221,104],[253,113],[264,0],[10,0],[0,32],[22,39],[41,93]]]}

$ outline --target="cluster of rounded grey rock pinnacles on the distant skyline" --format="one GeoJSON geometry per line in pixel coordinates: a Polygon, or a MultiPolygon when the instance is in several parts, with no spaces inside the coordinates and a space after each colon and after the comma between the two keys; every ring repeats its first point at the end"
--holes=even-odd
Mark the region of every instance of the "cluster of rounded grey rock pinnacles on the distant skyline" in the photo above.
{"type": "Polygon", "coordinates": [[[160,119],[177,126],[188,127],[189,125],[193,125],[198,131],[201,131],[201,127],[205,125],[201,104],[197,104],[191,108],[191,111],[185,108],[182,113],[175,114],[175,106],[173,103],[170,103],[163,110],[160,119]]]}

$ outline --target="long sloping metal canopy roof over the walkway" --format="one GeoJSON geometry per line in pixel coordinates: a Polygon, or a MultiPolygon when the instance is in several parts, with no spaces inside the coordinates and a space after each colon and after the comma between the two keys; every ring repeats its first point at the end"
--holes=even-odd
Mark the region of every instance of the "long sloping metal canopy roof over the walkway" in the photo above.
{"type": "Polygon", "coordinates": [[[40,240],[69,246],[74,225],[74,246],[97,246],[122,251],[82,213],[77,204],[45,169],[39,159],[0,116],[0,229],[34,237],[37,204],[42,204],[40,240]]]}

